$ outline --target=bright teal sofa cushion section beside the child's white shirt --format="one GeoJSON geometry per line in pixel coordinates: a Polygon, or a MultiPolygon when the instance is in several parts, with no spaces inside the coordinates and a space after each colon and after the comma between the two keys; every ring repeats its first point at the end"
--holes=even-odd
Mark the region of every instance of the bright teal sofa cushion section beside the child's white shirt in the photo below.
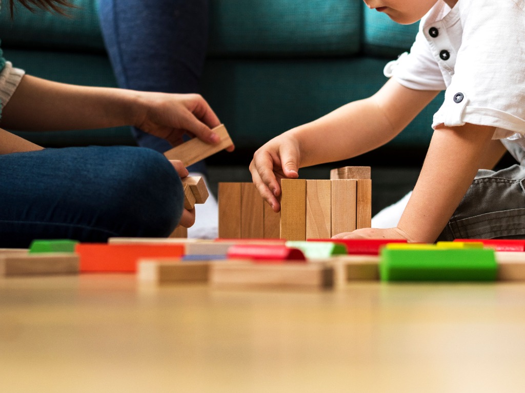
{"type": "Polygon", "coordinates": [[[363,7],[363,50],[377,57],[395,58],[412,46],[418,23],[400,25],[375,9],[363,7]]]}

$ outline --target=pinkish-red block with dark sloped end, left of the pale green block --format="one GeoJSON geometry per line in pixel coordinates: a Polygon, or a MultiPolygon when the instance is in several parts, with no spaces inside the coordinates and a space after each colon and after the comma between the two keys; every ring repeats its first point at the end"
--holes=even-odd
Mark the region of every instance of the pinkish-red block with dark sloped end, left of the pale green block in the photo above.
{"type": "Polygon", "coordinates": [[[253,259],[264,261],[303,260],[306,257],[298,248],[290,248],[279,244],[237,244],[228,248],[228,258],[253,259]]]}

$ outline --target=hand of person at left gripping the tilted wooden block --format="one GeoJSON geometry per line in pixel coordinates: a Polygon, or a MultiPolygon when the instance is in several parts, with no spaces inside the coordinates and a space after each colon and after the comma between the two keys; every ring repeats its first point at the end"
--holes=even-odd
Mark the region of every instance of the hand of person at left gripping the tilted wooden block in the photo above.
{"type": "MultiPolygon", "coordinates": [[[[219,136],[211,128],[218,126],[220,121],[202,96],[148,92],[138,94],[140,109],[135,127],[166,139],[173,146],[183,142],[184,134],[207,143],[219,142],[219,136]]],[[[232,151],[233,146],[226,150],[232,151]]]]}

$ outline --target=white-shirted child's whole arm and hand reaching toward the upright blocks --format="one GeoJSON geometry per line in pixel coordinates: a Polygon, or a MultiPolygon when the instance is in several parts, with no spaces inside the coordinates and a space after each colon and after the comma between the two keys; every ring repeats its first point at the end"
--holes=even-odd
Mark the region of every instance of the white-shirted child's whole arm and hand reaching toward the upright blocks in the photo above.
{"type": "Polygon", "coordinates": [[[408,89],[390,79],[372,97],[346,104],[271,139],[255,152],[250,163],[259,193],[279,211],[278,179],[297,178],[300,167],[355,157],[384,145],[437,93],[408,89]]]}

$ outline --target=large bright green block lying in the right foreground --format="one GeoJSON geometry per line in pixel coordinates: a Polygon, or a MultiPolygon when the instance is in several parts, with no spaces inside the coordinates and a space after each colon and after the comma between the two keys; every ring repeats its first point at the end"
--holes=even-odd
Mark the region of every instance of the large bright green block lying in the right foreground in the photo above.
{"type": "Polygon", "coordinates": [[[379,267],[382,281],[495,281],[497,270],[488,248],[384,248],[379,267]]]}

